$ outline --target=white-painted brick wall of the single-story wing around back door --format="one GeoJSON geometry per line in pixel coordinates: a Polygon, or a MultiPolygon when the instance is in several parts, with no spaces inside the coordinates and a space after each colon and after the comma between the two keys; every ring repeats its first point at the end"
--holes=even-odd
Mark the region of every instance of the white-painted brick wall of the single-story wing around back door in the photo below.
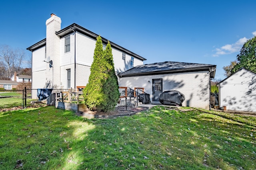
{"type": "Polygon", "coordinates": [[[162,78],[163,92],[178,90],[186,100],[182,106],[209,109],[209,74],[208,71],[176,74],[160,74],[150,76],[121,77],[119,86],[145,88],[152,101],[152,79],[162,78]],[[148,82],[150,81],[150,82],[148,82]]]}

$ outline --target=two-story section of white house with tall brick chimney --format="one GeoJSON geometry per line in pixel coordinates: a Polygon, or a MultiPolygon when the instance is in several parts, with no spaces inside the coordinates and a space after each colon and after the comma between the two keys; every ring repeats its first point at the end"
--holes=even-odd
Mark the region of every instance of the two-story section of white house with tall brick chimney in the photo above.
{"type": "MultiPolygon", "coordinates": [[[[32,51],[32,89],[76,89],[86,86],[98,35],[73,23],[63,29],[55,14],[46,20],[46,39],[28,47],[32,51]],[[45,62],[46,63],[45,63],[45,62]]],[[[108,40],[102,37],[103,47],[108,40]]],[[[143,57],[110,41],[115,71],[143,64],[143,57]]]]}

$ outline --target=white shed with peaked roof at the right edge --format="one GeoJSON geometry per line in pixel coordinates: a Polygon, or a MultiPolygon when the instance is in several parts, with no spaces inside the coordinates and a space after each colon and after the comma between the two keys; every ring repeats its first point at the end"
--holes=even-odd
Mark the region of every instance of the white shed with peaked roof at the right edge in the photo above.
{"type": "Polygon", "coordinates": [[[256,111],[256,73],[240,68],[217,84],[219,105],[227,110],[256,111]]]}

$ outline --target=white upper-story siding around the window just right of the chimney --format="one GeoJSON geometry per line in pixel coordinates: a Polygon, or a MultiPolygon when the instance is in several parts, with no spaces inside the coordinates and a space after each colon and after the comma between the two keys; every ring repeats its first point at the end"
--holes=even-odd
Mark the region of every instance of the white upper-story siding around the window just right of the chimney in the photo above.
{"type": "Polygon", "coordinates": [[[65,37],[60,39],[60,66],[75,63],[75,34],[70,34],[70,51],[65,53],[65,37]]]}

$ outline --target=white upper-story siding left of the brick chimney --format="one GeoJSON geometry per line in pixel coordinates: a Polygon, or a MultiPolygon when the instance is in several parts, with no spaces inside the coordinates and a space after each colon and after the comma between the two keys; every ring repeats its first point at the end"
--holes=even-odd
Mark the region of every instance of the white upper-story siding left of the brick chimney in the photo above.
{"type": "Polygon", "coordinates": [[[45,47],[41,47],[32,53],[32,72],[46,70],[45,67],[45,47]]]}

